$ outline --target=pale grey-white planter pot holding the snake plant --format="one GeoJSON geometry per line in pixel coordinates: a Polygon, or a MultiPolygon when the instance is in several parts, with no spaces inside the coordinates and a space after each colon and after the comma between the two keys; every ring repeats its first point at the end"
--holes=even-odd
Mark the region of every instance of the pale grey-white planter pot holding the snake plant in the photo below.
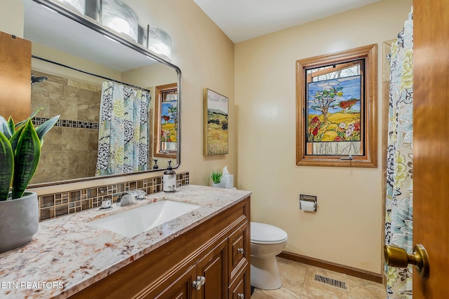
{"type": "Polygon", "coordinates": [[[36,193],[25,192],[16,200],[0,201],[0,253],[27,244],[38,228],[36,193]]]}

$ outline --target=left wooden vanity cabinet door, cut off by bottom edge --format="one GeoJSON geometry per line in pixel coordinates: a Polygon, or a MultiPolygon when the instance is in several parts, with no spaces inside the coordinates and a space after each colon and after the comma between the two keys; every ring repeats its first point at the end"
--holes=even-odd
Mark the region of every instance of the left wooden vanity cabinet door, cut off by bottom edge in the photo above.
{"type": "MultiPolygon", "coordinates": [[[[149,294],[143,298],[145,299],[195,299],[195,288],[192,287],[194,276],[195,275],[195,266],[189,267],[189,270],[182,274],[180,277],[177,277],[173,284],[170,284],[168,288],[159,293],[154,297],[149,294]]],[[[142,299],[143,299],[142,298],[142,299]]]]}

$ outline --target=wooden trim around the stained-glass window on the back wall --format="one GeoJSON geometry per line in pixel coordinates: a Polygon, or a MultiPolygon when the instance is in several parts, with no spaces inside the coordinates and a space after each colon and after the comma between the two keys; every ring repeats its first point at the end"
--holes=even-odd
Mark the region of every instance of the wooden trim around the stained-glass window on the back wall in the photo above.
{"type": "Polygon", "coordinates": [[[377,167],[377,44],[320,55],[296,61],[296,165],[330,167],[377,167]],[[363,88],[365,92],[363,142],[365,153],[341,160],[343,155],[306,155],[306,69],[338,64],[351,60],[365,60],[363,88]]]}

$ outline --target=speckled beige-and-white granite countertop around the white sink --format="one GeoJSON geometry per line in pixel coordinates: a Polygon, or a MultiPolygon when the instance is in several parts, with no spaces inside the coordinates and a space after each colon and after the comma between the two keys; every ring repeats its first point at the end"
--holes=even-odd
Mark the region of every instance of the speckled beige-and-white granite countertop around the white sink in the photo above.
{"type": "Polygon", "coordinates": [[[147,195],[132,206],[114,204],[109,211],[95,208],[43,221],[31,242],[0,254],[0,298],[67,298],[250,194],[187,185],[175,193],[147,195]],[[135,237],[88,225],[96,218],[163,199],[201,207],[135,237]]]}

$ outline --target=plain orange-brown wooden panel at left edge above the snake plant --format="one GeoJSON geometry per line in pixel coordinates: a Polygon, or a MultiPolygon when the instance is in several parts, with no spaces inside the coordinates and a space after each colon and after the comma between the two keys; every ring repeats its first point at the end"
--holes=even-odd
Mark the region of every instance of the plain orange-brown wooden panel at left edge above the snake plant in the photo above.
{"type": "Polygon", "coordinates": [[[0,115],[18,123],[30,110],[31,42],[0,32],[0,115]]]}

